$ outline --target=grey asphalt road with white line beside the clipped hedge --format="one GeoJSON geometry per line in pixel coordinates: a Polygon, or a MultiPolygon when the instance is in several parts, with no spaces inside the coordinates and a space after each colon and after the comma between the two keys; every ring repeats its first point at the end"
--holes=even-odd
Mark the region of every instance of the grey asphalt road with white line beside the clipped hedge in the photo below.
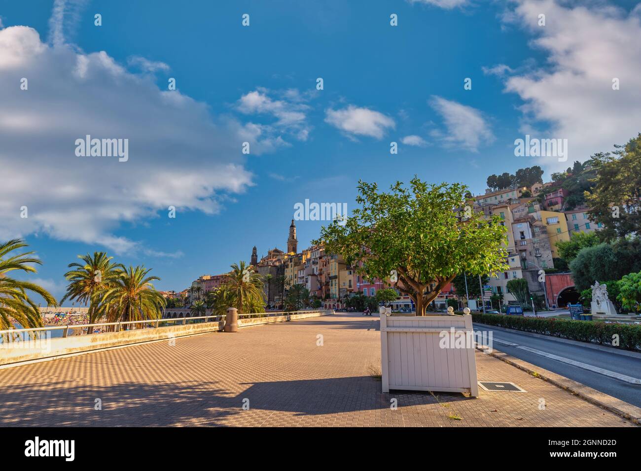
{"type": "Polygon", "coordinates": [[[641,358],[538,338],[519,331],[474,326],[475,331],[490,329],[493,347],[498,351],[641,407],[641,358]]]}

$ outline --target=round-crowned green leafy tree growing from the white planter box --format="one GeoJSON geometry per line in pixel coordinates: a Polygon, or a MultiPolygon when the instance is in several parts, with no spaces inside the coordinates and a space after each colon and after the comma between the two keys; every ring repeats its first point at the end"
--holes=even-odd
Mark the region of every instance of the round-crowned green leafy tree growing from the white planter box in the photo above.
{"type": "Polygon", "coordinates": [[[428,185],[415,177],[410,188],[396,182],[390,190],[378,192],[376,183],[359,181],[356,202],[362,208],[322,227],[313,244],[341,254],[367,279],[397,277],[394,287],[412,299],[421,316],[463,270],[478,275],[507,267],[500,218],[485,220],[472,211],[462,220],[454,211],[466,204],[466,186],[428,185]]]}

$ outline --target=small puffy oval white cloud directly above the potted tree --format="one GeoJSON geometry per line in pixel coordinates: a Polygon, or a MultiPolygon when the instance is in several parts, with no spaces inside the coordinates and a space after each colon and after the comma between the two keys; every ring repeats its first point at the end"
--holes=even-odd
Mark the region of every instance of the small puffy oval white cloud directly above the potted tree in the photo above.
{"type": "Polygon", "coordinates": [[[340,129],[346,135],[370,136],[383,138],[388,128],[394,129],[394,120],[383,113],[369,108],[358,108],[349,105],[342,110],[326,110],[325,122],[340,129]]]}

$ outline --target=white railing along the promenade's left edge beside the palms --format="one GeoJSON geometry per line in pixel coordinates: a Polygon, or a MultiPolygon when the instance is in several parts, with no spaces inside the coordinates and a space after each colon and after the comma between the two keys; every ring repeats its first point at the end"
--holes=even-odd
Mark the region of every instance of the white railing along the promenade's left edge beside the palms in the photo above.
{"type": "MultiPolygon", "coordinates": [[[[278,317],[282,315],[292,315],[292,314],[302,314],[302,313],[319,313],[322,311],[327,311],[324,309],[320,310],[306,310],[306,311],[271,311],[271,312],[262,312],[262,313],[253,313],[253,314],[238,314],[238,319],[245,319],[245,318],[252,318],[252,317],[278,317]]],[[[38,332],[45,332],[45,331],[58,331],[62,330],[62,336],[63,338],[69,336],[69,331],[72,331],[74,329],[87,329],[87,333],[83,334],[81,331],[80,335],[93,335],[94,333],[94,328],[95,327],[113,327],[113,331],[110,330],[110,332],[120,332],[122,330],[122,327],[129,327],[129,326],[134,326],[137,324],[141,324],[142,328],[153,328],[153,329],[158,329],[158,324],[161,324],[162,322],[182,322],[182,325],[185,326],[187,325],[187,322],[190,322],[192,320],[200,320],[204,319],[204,322],[220,322],[222,318],[225,318],[226,315],[210,315],[210,316],[198,316],[198,317],[174,317],[174,318],[158,318],[158,319],[147,319],[147,320],[128,320],[125,322],[99,322],[97,324],[67,324],[65,326],[47,326],[47,327],[28,327],[26,329],[8,329],[8,330],[3,330],[0,331],[0,340],[2,339],[7,339],[9,342],[13,341],[20,341],[21,338],[25,338],[25,336],[29,337],[29,340],[31,338],[39,338],[38,335],[32,335],[31,333],[38,333],[38,332]],[[212,319],[212,320],[210,320],[212,319]],[[89,332],[89,329],[91,328],[91,332],[89,332]],[[17,338],[14,338],[17,336],[17,338]]],[[[191,324],[194,324],[194,322],[190,322],[191,324]]],[[[175,326],[176,324],[174,324],[175,326]]],[[[171,327],[171,326],[162,326],[162,327],[171,327]]],[[[124,329],[124,330],[131,330],[131,329],[124,329]]]]}

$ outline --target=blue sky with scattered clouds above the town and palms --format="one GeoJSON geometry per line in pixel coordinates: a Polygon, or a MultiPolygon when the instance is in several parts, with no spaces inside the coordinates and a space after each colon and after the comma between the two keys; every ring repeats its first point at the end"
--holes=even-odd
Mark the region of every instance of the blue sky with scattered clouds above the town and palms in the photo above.
{"type": "MultiPolygon", "coordinates": [[[[629,47],[640,12],[628,1],[0,2],[0,238],[26,238],[57,296],[67,264],[96,250],[178,291],[253,245],[285,249],[296,202],[353,209],[359,178],[387,187],[417,174],[474,194],[521,167],[549,178],[568,165],[515,157],[515,139],[568,138],[571,163],[640,130],[629,47]],[[74,155],[86,134],[128,138],[129,160],[74,155]]],[[[299,247],[321,224],[297,222],[299,247]]]]}

